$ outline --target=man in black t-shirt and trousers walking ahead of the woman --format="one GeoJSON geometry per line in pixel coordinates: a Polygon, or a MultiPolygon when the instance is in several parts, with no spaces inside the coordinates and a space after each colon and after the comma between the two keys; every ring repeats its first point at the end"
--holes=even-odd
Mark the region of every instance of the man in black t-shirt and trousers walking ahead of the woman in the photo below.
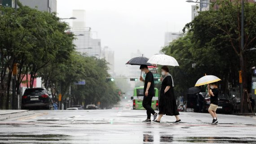
{"type": "Polygon", "coordinates": [[[154,96],[154,76],[149,71],[147,65],[141,65],[140,70],[143,74],[146,74],[145,80],[140,77],[140,80],[144,82],[144,97],[142,101],[142,106],[147,110],[147,119],[143,122],[151,122],[150,116],[151,113],[154,116],[154,120],[156,119],[157,113],[154,112],[154,109],[151,108],[152,98],[154,96]]]}

